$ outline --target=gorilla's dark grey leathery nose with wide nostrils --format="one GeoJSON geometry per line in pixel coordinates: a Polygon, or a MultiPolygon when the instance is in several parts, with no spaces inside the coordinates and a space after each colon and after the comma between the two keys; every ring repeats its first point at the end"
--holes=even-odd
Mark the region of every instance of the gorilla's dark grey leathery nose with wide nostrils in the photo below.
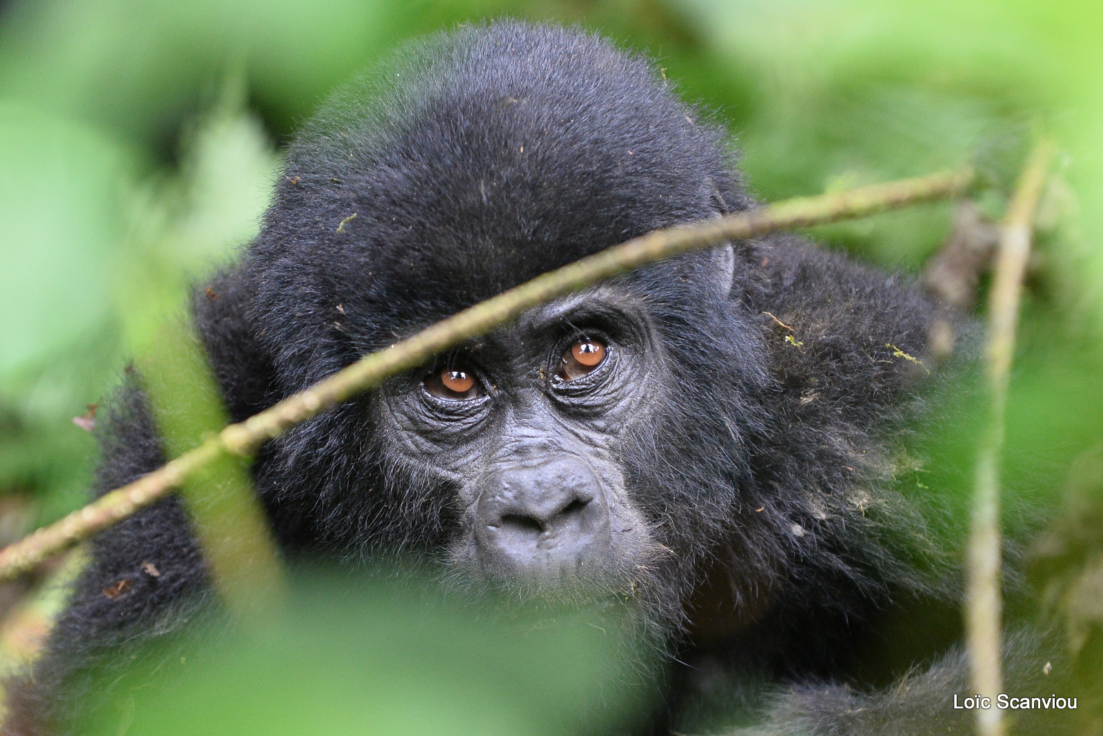
{"type": "Polygon", "coordinates": [[[503,469],[475,515],[479,552],[502,572],[558,577],[609,554],[609,504],[580,459],[503,469]]]}

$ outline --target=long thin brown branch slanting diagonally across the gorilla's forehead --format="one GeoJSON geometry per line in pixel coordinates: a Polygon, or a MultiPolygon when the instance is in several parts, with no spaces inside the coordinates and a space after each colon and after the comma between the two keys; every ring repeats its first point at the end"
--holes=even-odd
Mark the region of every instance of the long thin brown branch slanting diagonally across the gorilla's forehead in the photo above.
{"type": "Polygon", "coordinates": [[[383,379],[416,368],[465,339],[482,335],[526,310],[563,294],[653,261],[741,240],[775,230],[824,225],[864,217],[919,202],[964,194],[974,182],[972,169],[900,180],[816,197],[790,199],[768,207],[692,225],[681,225],[613,246],[544,273],[497,296],[471,306],[389,348],[361,358],[311,388],[176,457],[162,468],[117,488],[83,509],[0,551],[0,581],[33,569],[47,556],[168,495],[222,453],[249,455],[261,443],[318,412],[377,386],[383,379]]]}

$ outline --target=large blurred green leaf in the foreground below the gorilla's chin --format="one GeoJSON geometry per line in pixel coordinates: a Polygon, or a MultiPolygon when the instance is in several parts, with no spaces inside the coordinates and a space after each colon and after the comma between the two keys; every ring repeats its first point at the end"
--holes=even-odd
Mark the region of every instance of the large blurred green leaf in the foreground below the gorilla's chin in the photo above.
{"type": "Polygon", "coordinates": [[[653,663],[614,606],[442,603],[408,585],[293,580],[277,620],[206,620],[99,673],[74,733],[624,733],[650,712],[653,663]]]}

